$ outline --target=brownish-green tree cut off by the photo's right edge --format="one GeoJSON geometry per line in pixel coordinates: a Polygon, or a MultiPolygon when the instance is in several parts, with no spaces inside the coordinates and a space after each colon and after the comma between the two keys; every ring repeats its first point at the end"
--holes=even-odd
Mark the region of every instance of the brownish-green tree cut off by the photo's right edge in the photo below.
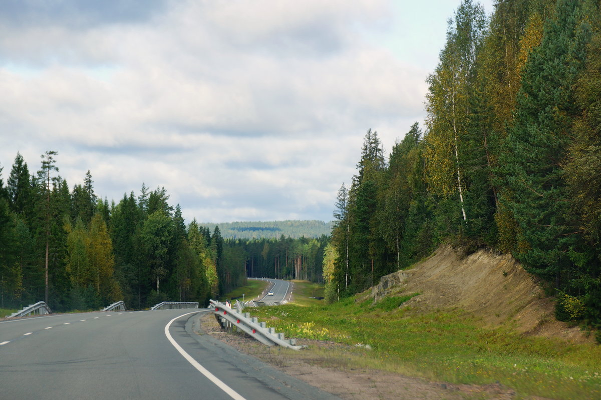
{"type": "MultiPolygon", "coordinates": [[[[598,11],[598,10],[597,10],[598,11]]],[[[599,16],[599,13],[596,13],[599,16]]],[[[588,15],[594,15],[590,13],[588,15]]],[[[597,17],[596,26],[601,25],[597,17]]],[[[601,34],[597,30],[588,48],[587,67],[576,85],[576,101],[583,110],[573,125],[574,141],[565,163],[573,230],[582,242],[570,248],[575,264],[570,291],[586,306],[582,317],[601,323],[601,34]]]]}

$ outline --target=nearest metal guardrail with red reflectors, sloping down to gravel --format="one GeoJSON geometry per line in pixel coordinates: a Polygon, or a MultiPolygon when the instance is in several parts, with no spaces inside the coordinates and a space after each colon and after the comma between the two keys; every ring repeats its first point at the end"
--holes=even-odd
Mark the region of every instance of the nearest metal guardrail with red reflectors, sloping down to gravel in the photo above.
{"type": "Polygon", "coordinates": [[[284,333],[276,333],[275,328],[268,328],[264,322],[259,322],[257,318],[251,318],[249,312],[237,312],[235,309],[215,300],[210,300],[210,303],[215,308],[215,318],[225,329],[235,328],[241,330],[268,346],[277,344],[294,350],[305,347],[296,345],[296,339],[285,339],[284,333]]]}

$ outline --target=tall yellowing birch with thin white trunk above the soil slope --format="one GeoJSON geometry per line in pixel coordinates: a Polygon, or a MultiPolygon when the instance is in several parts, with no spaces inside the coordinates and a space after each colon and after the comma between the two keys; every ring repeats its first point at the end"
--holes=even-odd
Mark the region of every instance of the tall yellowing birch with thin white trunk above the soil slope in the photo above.
{"type": "Polygon", "coordinates": [[[464,204],[463,140],[469,116],[469,85],[475,58],[486,32],[486,17],[480,4],[464,0],[450,19],[447,43],[439,64],[431,74],[427,94],[427,176],[430,190],[448,199],[457,196],[463,221],[468,219],[464,204]]]}

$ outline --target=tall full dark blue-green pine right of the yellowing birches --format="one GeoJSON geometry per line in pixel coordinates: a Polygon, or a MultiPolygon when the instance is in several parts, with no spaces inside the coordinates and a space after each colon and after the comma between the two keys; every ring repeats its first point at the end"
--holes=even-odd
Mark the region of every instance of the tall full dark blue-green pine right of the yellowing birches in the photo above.
{"type": "Polygon", "coordinates": [[[572,142],[579,113],[572,87],[584,66],[590,28],[582,22],[582,2],[560,0],[540,46],[530,54],[517,94],[513,126],[501,154],[502,204],[517,221],[514,255],[531,272],[555,279],[570,269],[568,249],[578,240],[565,219],[569,197],[561,161],[572,142]]]}

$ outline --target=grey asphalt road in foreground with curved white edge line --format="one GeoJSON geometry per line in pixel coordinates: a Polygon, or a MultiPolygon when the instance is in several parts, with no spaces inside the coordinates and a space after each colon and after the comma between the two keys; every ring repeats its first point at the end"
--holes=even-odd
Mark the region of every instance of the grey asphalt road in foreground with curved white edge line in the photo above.
{"type": "Polygon", "coordinates": [[[191,311],[0,321],[0,399],[335,398],[197,335],[198,318],[208,311],[191,311]]]}

